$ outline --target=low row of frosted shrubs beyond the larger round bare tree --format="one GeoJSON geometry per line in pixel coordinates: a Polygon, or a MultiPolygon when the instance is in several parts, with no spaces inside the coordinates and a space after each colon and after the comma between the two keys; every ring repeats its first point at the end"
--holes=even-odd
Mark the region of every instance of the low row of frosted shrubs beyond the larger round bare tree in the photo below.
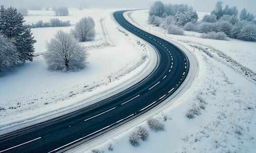
{"type": "Polygon", "coordinates": [[[45,28],[45,27],[68,27],[71,26],[70,21],[61,21],[60,19],[51,19],[50,22],[37,21],[35,24],[27,25],[29,28],[45,28]]]}

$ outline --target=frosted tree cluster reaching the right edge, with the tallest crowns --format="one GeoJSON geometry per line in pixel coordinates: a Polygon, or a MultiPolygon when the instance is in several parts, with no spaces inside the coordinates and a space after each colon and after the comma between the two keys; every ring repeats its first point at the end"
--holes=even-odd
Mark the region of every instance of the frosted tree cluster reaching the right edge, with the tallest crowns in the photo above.
{"type": "Polygon", "coordinates": [[[246,9],[243,9],[239,15],[237,7],[227,5],[223,9],[223,3],[219,1],[210,15],[205,15],[201,22],[187,23],[184,29],[205,33],[202,35],[203,38],[226,40],[228,36],[246,41],[256,41],[254,21],[254,16],[246,9]]]}

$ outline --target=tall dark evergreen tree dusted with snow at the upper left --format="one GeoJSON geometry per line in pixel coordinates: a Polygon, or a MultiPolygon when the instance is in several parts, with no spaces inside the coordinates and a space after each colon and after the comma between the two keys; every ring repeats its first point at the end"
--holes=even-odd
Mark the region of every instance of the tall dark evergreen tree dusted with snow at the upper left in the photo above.
{"type": "Polygon", "coordinates": [[[30,28],[23,25],[24,17],[15,8],[1,6],[0,33],[12,42],[19,53],[19,61],[33,60],[33,44],[36,42],[30,28]]]}

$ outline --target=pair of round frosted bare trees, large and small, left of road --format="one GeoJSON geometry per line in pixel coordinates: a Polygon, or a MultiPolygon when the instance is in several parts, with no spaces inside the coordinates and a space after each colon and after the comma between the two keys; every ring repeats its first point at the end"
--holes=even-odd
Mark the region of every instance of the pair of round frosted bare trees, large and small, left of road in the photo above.
{"type": "Polygon", "coordinates": [[[87,63],[87,53],[79,43],[91,41],[95,37],[93,18],[82,18],[70,33],[58,31],[55,38],[47,43],[44,55],[51,70],[74,71],[82,69],[87,63]]]}

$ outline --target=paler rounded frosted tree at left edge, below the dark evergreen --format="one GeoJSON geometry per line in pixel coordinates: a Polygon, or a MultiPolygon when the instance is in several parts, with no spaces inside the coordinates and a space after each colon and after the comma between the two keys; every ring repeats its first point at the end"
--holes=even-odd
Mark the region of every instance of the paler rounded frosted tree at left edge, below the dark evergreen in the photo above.
{"type": "Polygon", "coordinates": [[[3,35],[0,35],[0,72],[17,64],[16,47],[3,35]]]}

